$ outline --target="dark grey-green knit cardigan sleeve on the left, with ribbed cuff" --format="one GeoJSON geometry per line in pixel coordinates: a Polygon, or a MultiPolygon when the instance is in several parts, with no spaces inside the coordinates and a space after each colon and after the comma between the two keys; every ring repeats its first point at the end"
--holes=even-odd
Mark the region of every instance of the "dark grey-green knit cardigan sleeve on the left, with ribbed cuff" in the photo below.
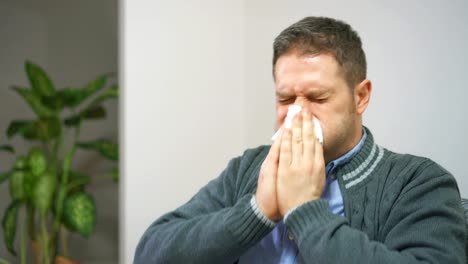
{"type": "Polygon", "coordinates": [[[152,223],[140,239],[134,263],[234,263],[268,234],[272,227],[252,209],[253,195],[237,197],[236,186],[250,177],[246,174],[258,154],[247,151],[231,160],[190,201],[152,223]]]}

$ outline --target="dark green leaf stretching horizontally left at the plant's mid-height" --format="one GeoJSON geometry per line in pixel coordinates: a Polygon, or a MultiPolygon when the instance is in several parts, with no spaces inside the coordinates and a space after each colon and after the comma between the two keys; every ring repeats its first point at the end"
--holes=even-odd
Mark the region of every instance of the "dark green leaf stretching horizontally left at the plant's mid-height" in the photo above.
{"type": "Polygon", "coordinates": [[[61,124],[57,117],[41,118],[36,121],[13,120],[7,129],[7,136],[11,138],[19,134],[28,140],[47,141],[60,135],[61,124]]]}

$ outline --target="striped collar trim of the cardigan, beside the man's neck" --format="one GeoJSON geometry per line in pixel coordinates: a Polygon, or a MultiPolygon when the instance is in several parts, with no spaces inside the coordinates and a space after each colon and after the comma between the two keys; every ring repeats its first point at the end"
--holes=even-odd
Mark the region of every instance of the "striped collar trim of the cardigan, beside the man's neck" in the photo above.
{"type": "Polygon", "coordinates": [[[358,185],[367,179],[376,169],[377,165],[382,161],[385,150],[383,147],[374,143],[374,138],[366,127],[367,132],[366,142],[362,149],[339,169],[339,177],[343,179],[344,187],[349,189],[358,185]]]}

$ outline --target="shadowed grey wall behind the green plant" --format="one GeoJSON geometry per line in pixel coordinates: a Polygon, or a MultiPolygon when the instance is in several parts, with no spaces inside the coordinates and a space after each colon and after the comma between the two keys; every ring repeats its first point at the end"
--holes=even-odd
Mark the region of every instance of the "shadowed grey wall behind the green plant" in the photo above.
{"type": "MultiPolygon", "coordinates": [[[[4,143],[7,139],[3,131],[13,117],[34,117],[9,89],[13,84],[28,85],[25,59],[44,67],[58,87],[82,86],[98,74],[117,73],[117,1],[1,0],[0,38],[0,142],[4,143]]],[[[83,140],[118,139],[117,102],[106,103],[106,108],[107,120],[85,124],[83,140]]],[[[24,153],[30,146],[19,138],[13,143],[18,153],[24,153]]],[[[4,171],[13,159],[1,155],[0,170],[4,171]]],[[[102,175],[110,166],[96,154],[77,152],[75,157],[74,168],[91,175],[102,175]]],[[[95,179],[88,191],[94,195],[98,207],[96,231],[87,241],[79,235],[71,236],[71,257],[83,263],[115,263],[118,186],[109,180],[95,179]]],[[[8,201],[8,185],[3,184],[0,186],[2,216],[8,201]]],[[[0,235],[3,239],[3,230],[0,235]]],[[[0,256],[9,256],[4,244],[0,244],[0,256]]]]}

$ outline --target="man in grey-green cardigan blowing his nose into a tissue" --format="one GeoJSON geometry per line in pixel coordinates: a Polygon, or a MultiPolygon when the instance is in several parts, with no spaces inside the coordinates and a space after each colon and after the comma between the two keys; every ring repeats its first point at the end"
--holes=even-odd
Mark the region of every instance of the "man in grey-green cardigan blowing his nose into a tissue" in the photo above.
{"type": "Polygon", "coordinates": [[[307,17],[275,39],[279,136],[156,220],[136,263],[465,263],[453,176],[378,146],[358,34],[307,17]],[[284,126],[288,107],[302,111],[284,126]],[[313,118],[323,129],[323,145],[313,118]]]}

